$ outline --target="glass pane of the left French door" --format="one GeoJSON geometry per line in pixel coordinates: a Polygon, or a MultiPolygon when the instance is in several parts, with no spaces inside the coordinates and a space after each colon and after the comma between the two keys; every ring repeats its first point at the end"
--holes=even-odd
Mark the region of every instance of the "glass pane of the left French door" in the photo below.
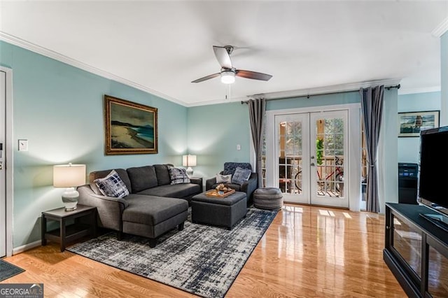
{"type": "Polygon", "coordinates": [[[279,187],[281,192],[302,192],[302,122],[280,122],[279,187]]]}

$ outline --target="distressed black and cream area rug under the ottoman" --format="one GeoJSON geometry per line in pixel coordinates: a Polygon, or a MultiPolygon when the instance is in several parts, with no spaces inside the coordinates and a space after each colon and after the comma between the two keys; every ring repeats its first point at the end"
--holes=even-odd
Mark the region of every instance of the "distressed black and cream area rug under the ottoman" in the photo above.
{"type": "Polygon", "coordinates": [[[248,209],[232,230],[186,222],[183,231],[148,239],[115,233],[66,248],[72,253],[202,297],[224,297],[277,211],[248,209]]]}

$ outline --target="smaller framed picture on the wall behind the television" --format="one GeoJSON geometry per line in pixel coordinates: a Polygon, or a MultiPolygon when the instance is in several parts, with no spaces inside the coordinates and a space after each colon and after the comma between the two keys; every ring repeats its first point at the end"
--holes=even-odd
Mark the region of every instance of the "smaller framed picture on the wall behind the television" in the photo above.
{"type": "Polygon", "coordinates": [[[420,136],[425,129],[439,127],[439,111],[398,113],[398,136],[420,136]]]}

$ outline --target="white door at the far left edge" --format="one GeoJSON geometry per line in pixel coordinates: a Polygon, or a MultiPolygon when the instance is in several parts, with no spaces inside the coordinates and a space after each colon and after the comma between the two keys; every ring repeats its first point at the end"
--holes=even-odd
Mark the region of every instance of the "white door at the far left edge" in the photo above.
{"type": "Polygon", "coordinates": [[[0,71],[0,257],[6,255],[6,73],[0,71]]]}

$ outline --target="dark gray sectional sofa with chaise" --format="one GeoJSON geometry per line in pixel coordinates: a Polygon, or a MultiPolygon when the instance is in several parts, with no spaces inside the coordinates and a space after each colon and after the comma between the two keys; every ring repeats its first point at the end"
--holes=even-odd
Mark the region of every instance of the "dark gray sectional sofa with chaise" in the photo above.
{"type": "Polygon", "coordinates": [[[97,207],[98,225],[117,232],[144,236],[154,247],[158,236],[174,229],[183,229],[188,204],[202,192],[202,179],[171,185],[168,166],[155,164],[129,169],[115,169],[130,194],[123,198],[106,197],[93,182],[104,178],[112,169],[90,173],[90,184],[78,187],[79,204],[97,207]]]}

